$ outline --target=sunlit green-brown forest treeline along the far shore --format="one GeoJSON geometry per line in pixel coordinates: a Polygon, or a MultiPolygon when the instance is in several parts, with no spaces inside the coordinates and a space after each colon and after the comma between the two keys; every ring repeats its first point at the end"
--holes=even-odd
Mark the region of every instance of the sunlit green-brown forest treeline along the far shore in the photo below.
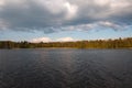
{"type": "Polygon", "coordinates": [[[95,40],[76,42],[50,42],[31,43],[28,41],[12,42],[0,41],[0,48],[47,48],[47,47],[69,47],[69,48],[132,48],[132,37],[116,40],[95,40]]]}

